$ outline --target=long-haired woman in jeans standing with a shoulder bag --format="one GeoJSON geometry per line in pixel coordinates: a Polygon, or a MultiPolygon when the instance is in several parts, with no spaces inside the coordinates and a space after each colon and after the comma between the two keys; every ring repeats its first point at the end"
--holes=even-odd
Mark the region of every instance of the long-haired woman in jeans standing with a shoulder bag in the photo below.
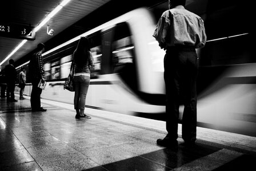
{"type": "Polygon", "coordinates": [[[85,115],[85,101],[90,84],[90,69],[93,67],[93,57],[87,37],[81,37],[73,53],[74,64],[74,108],[77,112],[75,119],[90,119],[85,115]]]}

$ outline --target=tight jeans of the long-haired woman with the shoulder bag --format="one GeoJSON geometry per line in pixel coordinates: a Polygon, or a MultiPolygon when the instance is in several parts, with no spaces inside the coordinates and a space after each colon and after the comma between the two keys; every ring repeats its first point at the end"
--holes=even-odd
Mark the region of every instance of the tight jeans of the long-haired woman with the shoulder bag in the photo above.
{"type": "Polygon", "coordinates": [[[74,76],[73,82],[75,87],[74,108],[84,110],[86,95],[90,84],[90,76],[74,76]]]}

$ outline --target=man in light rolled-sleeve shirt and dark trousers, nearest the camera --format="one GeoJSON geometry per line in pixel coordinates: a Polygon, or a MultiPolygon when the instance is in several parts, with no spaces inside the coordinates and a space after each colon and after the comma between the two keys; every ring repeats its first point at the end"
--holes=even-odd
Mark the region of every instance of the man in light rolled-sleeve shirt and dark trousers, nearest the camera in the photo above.
{"type": "Polygon", "coordinates": [[[166,50],[164,79],[166,87],[166,130],[157,144],[178,147],[180,97],[183,97],[182,139],[193,146],[197,135],[198,57],[195,48],[205,46],[205,26],[201,17],[185,9],[186,0],[169,0],[169,10],[162,13],[154,31],[159,46],[166,50]]]}

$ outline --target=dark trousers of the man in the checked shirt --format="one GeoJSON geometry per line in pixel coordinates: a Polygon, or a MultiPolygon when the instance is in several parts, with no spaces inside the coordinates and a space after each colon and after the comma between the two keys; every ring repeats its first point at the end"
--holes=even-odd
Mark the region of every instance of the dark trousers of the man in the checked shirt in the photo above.
{"type": "Polygon", "coordinates": [[[33,79],[32,83],[32,91],[30,97],[31,109],[36,110],[41,108],[41,93],[42,89],[38,88],[38,84],[40,79],[33,79]]]}

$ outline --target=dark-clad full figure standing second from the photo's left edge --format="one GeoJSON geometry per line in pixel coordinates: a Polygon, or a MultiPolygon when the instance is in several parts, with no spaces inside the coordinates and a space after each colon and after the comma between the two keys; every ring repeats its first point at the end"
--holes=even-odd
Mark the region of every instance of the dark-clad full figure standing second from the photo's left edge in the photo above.
{"type": "Polygon", "coordinates": [[[14,67],[14,60],[10,59],[9,60],[9,65],[5,67],[5,77],[6,77],[6,84],[7,84],[7,89],[6,89],[6,96],[7,96],[7,101],[10,102],[15,102],[18,100],[15,100],[14,98],[14,89],[15,89],[15,82],[17,78],[17,71],[14,67]]]}

